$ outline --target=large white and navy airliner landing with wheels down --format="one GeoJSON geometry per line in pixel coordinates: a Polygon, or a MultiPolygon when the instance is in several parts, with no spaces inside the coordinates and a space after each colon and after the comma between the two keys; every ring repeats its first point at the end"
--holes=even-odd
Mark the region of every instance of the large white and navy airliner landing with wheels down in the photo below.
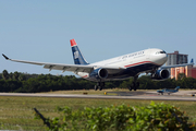
{"type": "Polygon", "coordinates": [[[119,81],[130,78],[134,78],[134,81],[128,86],[128,90],[136,91],[139,86],[139,82],[137,82],[137,79],[140,73],[151,73],[151,79],[161,81],[169,79],[170,72],[168,71],[168,68],[194,64],[186,63],[161,67],[167,62],[168,57],[164,50],[158,48],[145,49],[133,53],[111,58],[108,60],[88,63],[83,57],[75,39],[71,39],[70,43],[75,64],[25,61],[10,59],[3,53],[2,56],[7,60],[15,62],[44,66],[44,68],[49,69],[49,71],[61,70],[62,73],[65,71],[71,71],[81,78],[97,82],[97,84],[95,85],[95,91],[101,91],[105,87],[105,82],[107,81],[119,81]]]}

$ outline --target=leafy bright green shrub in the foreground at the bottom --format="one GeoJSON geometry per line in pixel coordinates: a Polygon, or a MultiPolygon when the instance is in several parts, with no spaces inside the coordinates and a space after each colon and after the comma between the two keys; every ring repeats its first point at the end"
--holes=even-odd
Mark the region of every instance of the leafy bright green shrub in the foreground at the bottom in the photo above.
{"type": "Polygon", "coordinates": [[[49,130],[93,130],[93,131],[192,131],[194,123],[188,123],[188,117],[174,106],[155,104],[146,107],[130,107],[125,105],[110,107],[86,107],[73,111],[69,107],[58,108],[62,114],[59,118],[38,118],[49,127],[49,130]]]}

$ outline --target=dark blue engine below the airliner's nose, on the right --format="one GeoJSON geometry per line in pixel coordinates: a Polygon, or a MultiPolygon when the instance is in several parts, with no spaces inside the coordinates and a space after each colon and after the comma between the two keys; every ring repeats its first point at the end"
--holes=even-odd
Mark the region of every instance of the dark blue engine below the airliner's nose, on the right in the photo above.
{"type": "Polygon", "coordinates": [[[166,69],[157,70],[155,73],[151,74],[151,79],[154,80],[166,80],[170,76],[170,72],[166,69]]]}

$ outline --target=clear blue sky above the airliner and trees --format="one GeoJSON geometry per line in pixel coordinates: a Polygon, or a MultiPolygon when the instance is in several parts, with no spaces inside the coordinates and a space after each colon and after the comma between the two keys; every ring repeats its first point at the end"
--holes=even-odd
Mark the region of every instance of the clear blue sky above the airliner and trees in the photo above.
{"type": "MultiPolygon", "coordinates": [[[[196,1],[0,1],[1,53],[12,59],[73,63],[72,38],[90,63],[146,48],[179,50],[189,61],[196,59],[196,1]]],[[[62,74],[0,57],[0,72],[4,69],[62,74]]]]}

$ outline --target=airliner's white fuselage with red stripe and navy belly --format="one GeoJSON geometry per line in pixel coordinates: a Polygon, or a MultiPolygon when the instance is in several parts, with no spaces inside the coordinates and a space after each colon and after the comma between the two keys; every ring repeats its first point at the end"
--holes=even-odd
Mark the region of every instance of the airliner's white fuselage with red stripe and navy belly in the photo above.
{"type": "MultiPolygon", "coordinates": [[[[146,50],[115,57],[112,59],[95,62],[89,66],[95,66],[96,68],[101,68],[106,66],[114,66],[114,67],[119,67],[120,69],[125,68],[130,70],[137,70],[135,72],[133,71],[134,74],[130,72],[130,76],[133,76],[135,75],[135,73],[139,74],[143,72],[148,72],[152,70],[154,67],[156,68],[161,67],[162,64],[166,63],[167,59],[168,59],[167,53],[163,50],[152,48],[152,49],[146,49],[146,50]]],[[[74,73],[76,73],[77,75],[84,79],[89,78],[88,72],[74,72],[74,73]]],[[[115,74],[115,73],[119,73],[119,71],[109,70],[109,74],[115,74]]],[[[127,74],[127,76],[125,78],[123,76],[122,79],[127,79],[130,76],[127,74]]],[[[122,79],[119,78],[119,80],[122,80],[122,79]]],[[[109,79],[109,81],[110,80],[112,79],[109,79]]]]}

